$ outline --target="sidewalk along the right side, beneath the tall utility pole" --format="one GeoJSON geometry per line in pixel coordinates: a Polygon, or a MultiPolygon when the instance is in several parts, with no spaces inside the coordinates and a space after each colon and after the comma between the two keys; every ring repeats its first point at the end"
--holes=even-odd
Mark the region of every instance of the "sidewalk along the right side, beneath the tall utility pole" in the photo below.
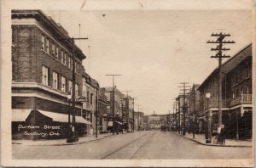
{"type": "MultiPolygon", "coordinates": [[[[177,135],[179,135],[177,132],[175,132],[177,135]]],[[[182,135],[180,135],[182,136],[182,135]]],[[[183,136],[187,139],[190,139],[196,143],[200,143],[202,145],[207,145],[207,146],[218,146],[218,147],[245,147],[245,148],[251,148],[252,147],[252,140],[238,140],[236,141],[235,139],[226,139],[225,140],[225,145],[219,145],[219,144],[213,144],[213,143],[206,143],[206,137],[205,134],[195,134],[195,139],[193,139],[193,134],[192,133],[186,133],[185,136],[183,136]]],[[[212,137],[212,142],[213,142],[213,137],[212,137]]]]}

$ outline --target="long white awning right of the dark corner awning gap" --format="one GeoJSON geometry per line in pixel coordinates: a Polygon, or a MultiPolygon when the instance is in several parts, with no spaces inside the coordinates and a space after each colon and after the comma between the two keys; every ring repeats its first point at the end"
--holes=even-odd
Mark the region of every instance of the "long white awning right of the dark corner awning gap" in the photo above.
{"type": "MultiPolygon", "coordinates": [[[[60,113],[55,113],[55,112],[49,112],[49,111],[44,111],[44,110],[38,110],[42,115],[46,115],[50,118],[52,118],[54,121],[57,122],[68,122],[68,115],[65,114],[60,114],[60,113]]],[[[72,116],[70,117],[70,120],[72,120],[72,116]]],[[[85,120],[82,116],[77,116],[75,117],[76,122],[79,123],[84,123],[84,124],[91,124],[88,120],[85,120]]]]}

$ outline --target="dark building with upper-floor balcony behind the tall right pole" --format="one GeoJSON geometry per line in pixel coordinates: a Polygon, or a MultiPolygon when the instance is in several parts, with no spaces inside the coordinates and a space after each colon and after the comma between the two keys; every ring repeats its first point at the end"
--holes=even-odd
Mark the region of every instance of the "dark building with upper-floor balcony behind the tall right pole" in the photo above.
{"type": "MultiPolygon", "coordinates": [[[[252,44],[243,48],[223,65],[222,120],[226,135],[230,138],[252,137],[252,44]]],[[[218,68],[202,82],[200,113],[212,113],[212,130],[218,126],[218,68]],[[206,92],[211,93],[207,101],[206,92]],[[207,104],[208,103],[208,104],[207,104]]],[[[206,118],[206,117],[205,117],[206,118]]]]}

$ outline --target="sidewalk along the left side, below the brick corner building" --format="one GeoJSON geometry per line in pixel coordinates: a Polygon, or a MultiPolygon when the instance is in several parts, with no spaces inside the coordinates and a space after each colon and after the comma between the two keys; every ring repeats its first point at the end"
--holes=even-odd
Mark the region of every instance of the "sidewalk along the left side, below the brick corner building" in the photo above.
{"type": "MultiPolygon", "coordinates": [[[[126,134],[127,132],[124,132],[126,134]]],[[[132,133],[132,132],[129,132],[132,133]]],[[[112,136],[119,136],[122,134],[112,134],[112,132],[99,134],[96,138],[96,135],[87,135],[85,137],[79,137],[79,142],[76,143],[67,143],[67,139],[54,139],[54,140],[12,140],[13,144],[22,144],[28,146],[61,146],[61,145],[73,145],[79,143],[87,143],[90,141],[96,141],[112,136]]]]}

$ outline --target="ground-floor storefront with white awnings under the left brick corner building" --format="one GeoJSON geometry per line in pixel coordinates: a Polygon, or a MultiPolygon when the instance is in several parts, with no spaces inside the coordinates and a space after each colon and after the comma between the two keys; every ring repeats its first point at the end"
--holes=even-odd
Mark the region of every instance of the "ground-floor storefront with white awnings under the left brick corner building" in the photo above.
{"type": "MultiPolygon", "coordinates": [[[[12,109],[13,139],[61,139],[67,138],[71,125],[68,115],[44,110],[12,109]]],[[[72,116],[71,116],[72,119],[72,116]]],[[[87,134],[90,122],[82,116],[75,117],[75,131],[79,137],[87,134]]]]}

